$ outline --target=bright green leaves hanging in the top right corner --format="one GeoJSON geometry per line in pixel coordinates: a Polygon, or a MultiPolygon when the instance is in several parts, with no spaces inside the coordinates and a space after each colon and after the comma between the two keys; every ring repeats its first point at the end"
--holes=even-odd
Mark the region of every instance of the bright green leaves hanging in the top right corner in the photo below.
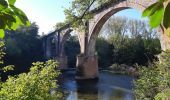
{"type": "Polygon", "coordinates": [[[150,5],[143,11],[143,17],[148,16],[150,19],[150,26],[158,27],[163,21],[165,33],[170,36],[170,2],[169,0],[158,0],[156,3],[150,5]],[[167,5],[166,5],[167,4],[167,5]]]}

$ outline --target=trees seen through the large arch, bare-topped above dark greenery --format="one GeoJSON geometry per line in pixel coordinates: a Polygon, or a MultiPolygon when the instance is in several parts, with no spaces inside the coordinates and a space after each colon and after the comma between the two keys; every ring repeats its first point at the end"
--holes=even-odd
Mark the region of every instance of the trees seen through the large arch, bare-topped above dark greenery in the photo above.
{"type": "Polygon", "coordinates": [[[144,21],[112,17],[105,23],[101,33],[113,48],[114,63],[145,65],[161,52],[156,32],[144,21]]]}

